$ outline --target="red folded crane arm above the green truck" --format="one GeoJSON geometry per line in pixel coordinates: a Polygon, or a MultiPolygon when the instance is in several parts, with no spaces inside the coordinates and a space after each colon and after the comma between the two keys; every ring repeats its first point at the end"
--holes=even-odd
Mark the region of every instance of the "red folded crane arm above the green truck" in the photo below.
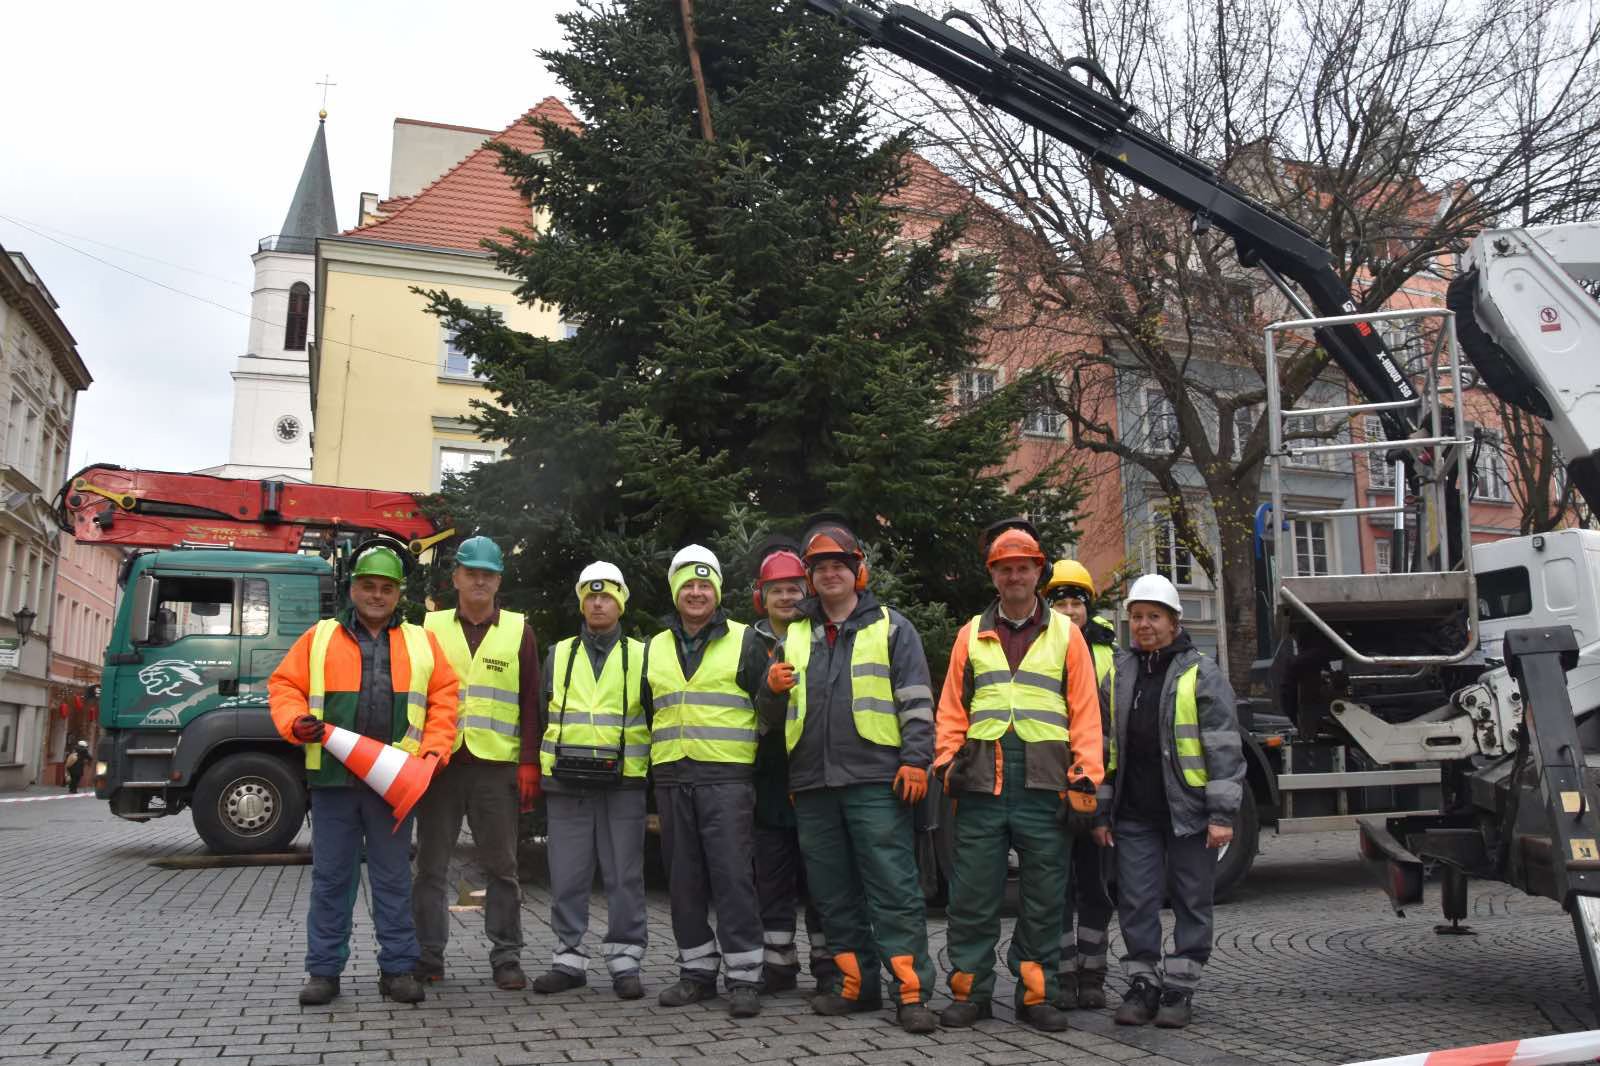
{"type": "Polygon", "coordinates": [[[298,552],[339,535],[382,535],[419,554],[440,530],[411,493],[86,466],[61,487],[56,522],[86,544],[298,552]]]}

